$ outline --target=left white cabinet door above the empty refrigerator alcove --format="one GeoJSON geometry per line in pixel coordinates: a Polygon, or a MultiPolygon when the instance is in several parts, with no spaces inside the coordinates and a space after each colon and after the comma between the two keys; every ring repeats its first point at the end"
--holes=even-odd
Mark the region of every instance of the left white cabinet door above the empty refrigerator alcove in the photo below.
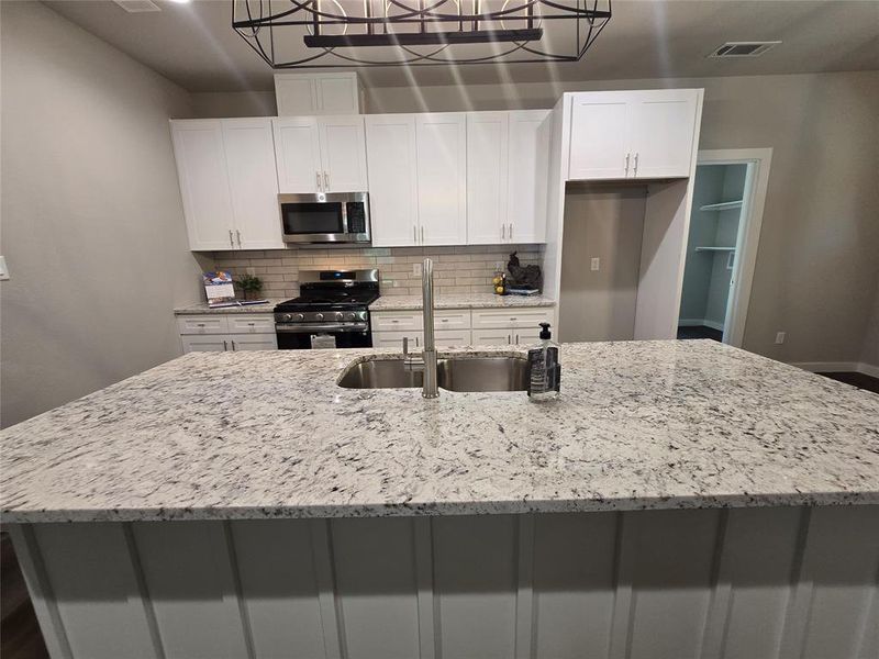
{"type": "Polygon", "coordinates": [[[568,180],[627,176],[631,171],[626,167],[631,99],[627,91],[583,92],[571,97],[568,180]]]}

